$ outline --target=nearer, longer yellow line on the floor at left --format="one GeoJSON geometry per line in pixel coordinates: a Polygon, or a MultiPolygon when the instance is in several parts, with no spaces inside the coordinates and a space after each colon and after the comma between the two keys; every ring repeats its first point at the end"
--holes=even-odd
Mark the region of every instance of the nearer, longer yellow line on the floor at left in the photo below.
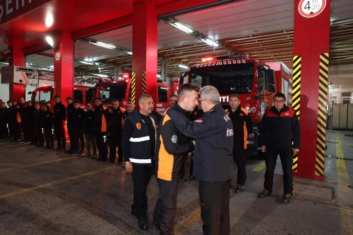
{"type": "Polygon", "coordinates": [[[100,172],[103,172],[103,171],[107,171],[107,170],[110,170],[110,169],[114,169],[114,168],[115,168],[114,166],[113,167],[102,168],[102,169],[99,169],[99,170],[86,172],[86,173],[83,173],[83,174],[80,174],[80,175],[64,178],[64,179],[61,179],[61,180],[52,181],[52,182],[45,183],[45,184],[42,184],[42,185],[36,185],[36,186],[29,187],[29,188],[23,188],[23,189],[20,189],[20,190],[11,192],[11,193],[2,194],[2,195],[0,195],[0,199],[12,197],[12,196],[15,196],[15,195],[18,195],[18,194],[22,194],[22,193],[31,192],[31,191],[34,191],[34,190],[37,190],[37,189],[40,189],[40,188],[50,187],[52,185],[57,185],[57,184],[60,184],[60,183],[71,181],[71,180],[77,180],[77,179],[80,179],[82,177],[94,175],[94,174],[97,174],[97,173],[100,173],[100,172]]]}

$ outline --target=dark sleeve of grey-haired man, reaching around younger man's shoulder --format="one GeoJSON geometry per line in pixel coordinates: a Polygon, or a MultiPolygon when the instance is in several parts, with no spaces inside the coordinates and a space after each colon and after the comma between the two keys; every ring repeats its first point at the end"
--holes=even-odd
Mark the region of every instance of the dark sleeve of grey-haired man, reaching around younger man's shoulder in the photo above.
{"type": "Polygon", "coordinates": [[[198,122],[190,121],[175,109],[168,109],[167,114],[176,128],[188,137],[198,139],[209,137],[219,132],[217,122],[212,120],[209,114],[198,119],[198,122]]]}

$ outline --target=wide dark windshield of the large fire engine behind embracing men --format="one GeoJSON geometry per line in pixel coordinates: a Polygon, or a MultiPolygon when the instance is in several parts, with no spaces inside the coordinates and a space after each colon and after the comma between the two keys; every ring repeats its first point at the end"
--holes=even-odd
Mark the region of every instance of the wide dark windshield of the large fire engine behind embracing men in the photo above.
{"type": "Polygon", "coordinates": [[[249,93],[252,89],[254,64],[232,64],[191,67],[191,83],[200,87],[212,85],[220,95],[249,93]]]}

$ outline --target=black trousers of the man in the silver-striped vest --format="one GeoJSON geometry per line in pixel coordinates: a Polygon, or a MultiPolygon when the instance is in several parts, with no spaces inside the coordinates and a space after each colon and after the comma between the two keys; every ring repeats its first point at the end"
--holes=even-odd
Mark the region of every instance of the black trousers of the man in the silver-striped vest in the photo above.
{"type": "Polygon", "coordinates": [[[148,203],[146,191],[152,176],[152,167],[138,164],[132,165],[131,176],[134,182],[134,203],[131,205],[131,210],[136,214],[137,218],[141,218],[147,215],[148,203]]]}

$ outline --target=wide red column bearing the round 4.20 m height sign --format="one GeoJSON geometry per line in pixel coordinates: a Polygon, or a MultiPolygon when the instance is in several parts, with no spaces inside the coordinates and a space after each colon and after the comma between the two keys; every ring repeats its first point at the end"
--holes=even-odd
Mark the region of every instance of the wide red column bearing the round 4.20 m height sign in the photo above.
{"type": "Polygon", "coordinates": [[[298,171],[294,172],[294,175],[323,180],[323,175],[316,172],[319,76],[320,54],[329,52],[331,0],[294,2],[294,56],[301,56],[301,149],[298,156],[298,171]]]}

